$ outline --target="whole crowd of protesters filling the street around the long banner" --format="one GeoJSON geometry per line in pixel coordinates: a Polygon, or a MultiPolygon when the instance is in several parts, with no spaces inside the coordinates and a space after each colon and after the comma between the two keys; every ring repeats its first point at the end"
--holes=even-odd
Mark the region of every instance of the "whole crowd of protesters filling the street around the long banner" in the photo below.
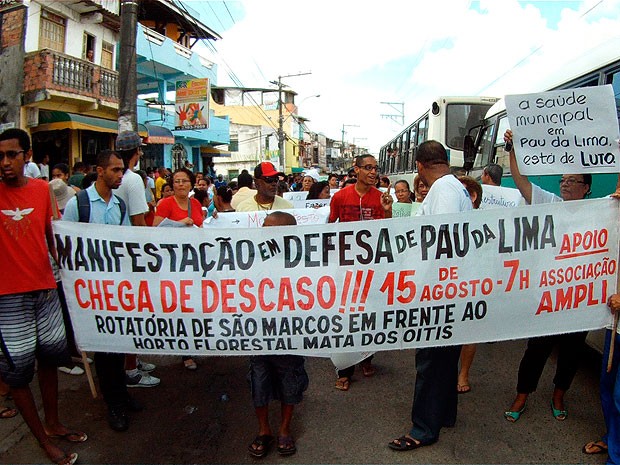
{"type": "MultiPolygon", "coordinates": [[[[505,134],[511,142],[512,133],[505,134]]],[[[142,156],[142,140],[134,132],[119,134],[115,150],[104,150],[97,157],[95,170],[85,164],[74,166],[69,176],[67,165],[58,164],[46,172],[49,183],[28,165],[32,162],[30,139],[20,129],[0,134],[0,210],[4,215],[0,237],[5,245],[5,263],[0,275],[0,394],[9,392],[17,409],[0,406],[0,419],[19,414],[44,449],[59,465],[73,464],[77,453],[66,453],[52,438],[84,442],[85,432],[61,422],[58,412],[58,371],[80,375],[83,369],[75,360],[89,364],[75,344],[69,312],[62,293],[53,244],[52,218],[63,221],[132,227],[202,227],[209,217],[229,212],[262,211],[263,226],[294,226],[295,217],[286,212],[293,204],[282,195],[287,191],[306,191],[308,199],[330,199],[329,222],[383,220],[392,217],[395,204],[411,204],[419,216],[468,212],[482,200],[480,183],[468,176],[455,176],[445,148],[438,142],[422,143],[416,153],[417,176],[413,190],[406,180],[382,176],[372,155],[355,158],[345,176],[329,174],[322,181],[310,170],[287,176],[270,162],[261,162],[253,170],[242,171],[235,181],[222,176],[196,173],[191,166],[174,172],[161,167],[157,173],[136,170],[142,156]],[[392,182],[394,181],[394,182],[392,182]],[[394,190],[392,195],[391,190],[394,190]],[[53,193],[50,196],[50,193],[53,193]],[[26,221],[22,221],[27,218],[26,221]],[[26,245],[27,244],[27,245],[26,245]],[[73,359],[72,357],[73,356],[73,359]],[[35,360],[42,394],[44,418],[40,418],[30,390],[35,360]]],[[[566,174],[560,182],[560,196],[532,184],[519,172],[514,150],[510,152],[511,175],[527,204],[544,204],[586,198],[592,185],[587,174],[566,174]]],[[[502,170],[489,165],[481,177],[483,184],[500,185],[502,170]]],[[[620,190],[613,194],[620,197],[620,190]]],[[[620,311],[620,295],[608,301],[612,313],[620,311]]],[[[504,417],[516,422],[524,414],[528,395],[537,388],[542,370],[554,347],[559,348],[555,388],[550,409],[557,421],[564,421],[568,409],[564,396],[575,376],[585,333],[543,336],[528,341],[518,372],[516,397],[504,417]]],[[[433,444],[443,427],[452,426],[457,417],[459,394],[471,392],[469,370],[475,345],[420,348],[416,350],[416,380],[412,400],[412,427],[390,441],[389,448],[409,451],[433,444]]],[[[620,335],[608,328],[605,352],[614,350],[610,371],[602,369],[601,403],[607,428],[599,440],[583,447],[586,454],[607,453],[608,463],[620,464],[620,335]],[[612,349],[611,341],[616,345],[612,349]]],[[[361,357],[360,357],[361,358],[361,357]]],[[[606,361],[606,356],[603,357],[606,361]]],[[[188,370],[196,370],[194,357],[184,357],[188,370]]],[[[130,413],[143,406],[129,388],[155,387],[159,378],[151,372],[155,365],[135,355],[101,353],[94,355],[99,387],[108,408],[109,426],[126,431],[130,413]]],[[[362,374],[371,377],[376,370],[372,356],[360,362],[362,374]]],[[[335,388],[348,391],[355,365],[339,370],[335,388]]],[[[258,433],[248,453],[265,457],[275,446],[280,455],[297,451],[292,435],[294,407],[303,399],[308,386],[304,358],[297,355],[256,355],[250,357],[248,379],[258,433]],[[281,403],[281,421],[272,429],[269,403],[281,403]]]]}

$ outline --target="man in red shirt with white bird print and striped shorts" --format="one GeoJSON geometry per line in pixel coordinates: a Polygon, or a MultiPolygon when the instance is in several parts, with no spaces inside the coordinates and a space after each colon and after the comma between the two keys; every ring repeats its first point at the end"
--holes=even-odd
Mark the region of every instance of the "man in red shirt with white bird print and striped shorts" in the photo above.
{"type": "Polygon", "coordinates": [[[52,204],[45,181],[24,176],[30,138],[21,129],[0,134],[0,373],[11,387],[15,405],[48,457],[73,464],[50,437],[84,442],[87,435],[69,430],[58,418],[57,367],[69,359],[56,280],[48,252],[56,259],[52,204]],[[35,358],[45,422],[35,405],[30,382],[35,358]]]}

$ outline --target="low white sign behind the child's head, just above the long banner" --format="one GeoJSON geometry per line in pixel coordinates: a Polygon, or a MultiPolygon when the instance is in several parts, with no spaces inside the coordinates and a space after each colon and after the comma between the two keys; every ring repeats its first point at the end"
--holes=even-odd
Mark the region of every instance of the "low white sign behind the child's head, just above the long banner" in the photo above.
{"type": "MultiPolygon", "coordinates": [[[[297,220],[298,225],[325,224],[329,218],[329,208],[293,208],[286,210],[297,220]]],[[[202,224],[203,228],[260,228],[265,217],[271,213],[267,210],[255,212],[218,213],[217,218],[209,217],[202,224]]]]}

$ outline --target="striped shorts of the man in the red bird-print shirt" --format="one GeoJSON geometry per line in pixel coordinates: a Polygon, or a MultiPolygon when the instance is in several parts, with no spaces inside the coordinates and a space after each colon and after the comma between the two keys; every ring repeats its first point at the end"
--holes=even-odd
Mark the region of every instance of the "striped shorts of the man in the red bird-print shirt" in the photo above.
{"type": "Polygon", "coordinates": [[[12,387],[30,384],[35,358],[60,366],[70,361],[56,289],[0,296],[0,373],[12,387]],[[7,358],[8,356],[8,358],[7,358]]]}

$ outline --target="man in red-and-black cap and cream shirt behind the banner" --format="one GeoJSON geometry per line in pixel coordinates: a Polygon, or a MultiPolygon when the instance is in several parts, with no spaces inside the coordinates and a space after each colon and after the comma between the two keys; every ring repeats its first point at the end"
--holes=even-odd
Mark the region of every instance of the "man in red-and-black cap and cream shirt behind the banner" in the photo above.
{"type": "Polygon", "coordinates": [[[276,195],[278,181],[284,173],[277,171],[272,163],[264,161],[254,168],[256,195],[245,199],[237,206],[238,212],[272,211],[293,208],[288,200],[276,195]]]}

